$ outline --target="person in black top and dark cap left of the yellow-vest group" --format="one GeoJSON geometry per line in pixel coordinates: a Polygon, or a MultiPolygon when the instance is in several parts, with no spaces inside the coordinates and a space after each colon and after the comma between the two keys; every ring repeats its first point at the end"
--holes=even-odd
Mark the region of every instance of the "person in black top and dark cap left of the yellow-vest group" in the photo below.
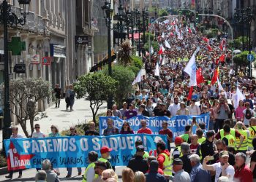
{"type": "Polygon", "coordinates": [[[206,141],[201,143],[200,151],[202,154],[202,159],[206,156],[213,156],[215,154],[214,151],[214,131],[206,132],[206,141]]]}

